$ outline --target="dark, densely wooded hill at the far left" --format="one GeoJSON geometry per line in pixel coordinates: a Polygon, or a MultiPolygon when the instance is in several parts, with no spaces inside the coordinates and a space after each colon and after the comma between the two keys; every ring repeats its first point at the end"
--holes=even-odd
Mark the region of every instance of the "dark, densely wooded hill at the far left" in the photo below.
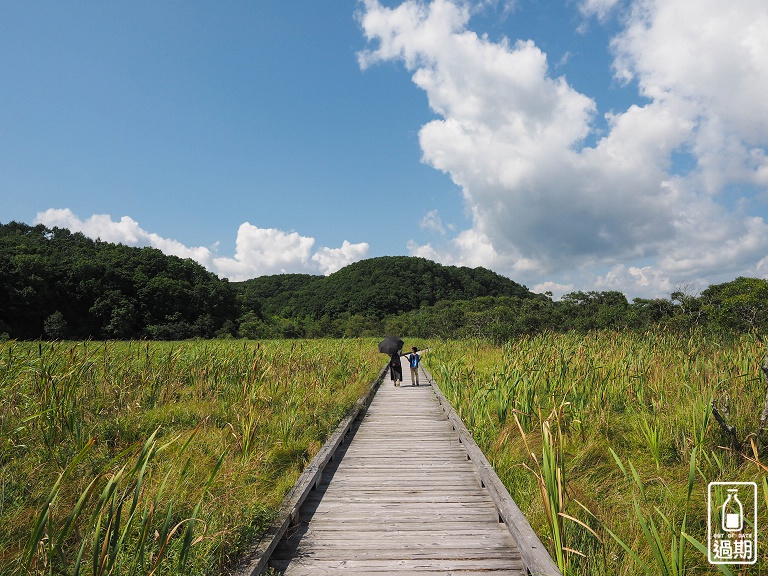
{"type": "Polygon", "coordinates": [[[0,226],[0,332],[14,338],[188,338],[234,331],[228,282],[154,248],[0,226]]]}

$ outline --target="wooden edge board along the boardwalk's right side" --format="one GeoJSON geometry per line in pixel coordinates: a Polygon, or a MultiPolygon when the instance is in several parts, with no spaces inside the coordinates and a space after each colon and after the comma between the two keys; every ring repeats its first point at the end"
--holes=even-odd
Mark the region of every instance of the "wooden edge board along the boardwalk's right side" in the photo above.
{"type": "Polygon", "coordinates": [[[536,532],[531,528],[531,524],[517,504],[515,504],[512,496],[509,495],[506,486],[499,479],[483,451],[475,443],[472,434],[467,430],[461,417],[443,395],[440,386],[429,372],[424,370],[424,373],[432,384],[432,389],[437,396],[438,402],[440,402],[440,406],[459,435],[459,442],[464,445],[467,456],[477,467],[480,482],[488,490],[491,498],[496,503],[499,519],[504,522],[507,530],[509,530],[512,538],[515,540],[528,574],[530,576],[562,576],[544,544],[542,544],[536,532]]]}

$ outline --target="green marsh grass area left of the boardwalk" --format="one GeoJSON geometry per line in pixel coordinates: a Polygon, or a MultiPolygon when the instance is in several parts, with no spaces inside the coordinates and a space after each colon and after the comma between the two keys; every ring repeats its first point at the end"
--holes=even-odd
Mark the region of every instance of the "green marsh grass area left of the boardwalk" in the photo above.
{"type": "Polygon", "coordinates": [[[376,342],[0,344],[0,574],[218,574],[378,374],[376,342]]]}

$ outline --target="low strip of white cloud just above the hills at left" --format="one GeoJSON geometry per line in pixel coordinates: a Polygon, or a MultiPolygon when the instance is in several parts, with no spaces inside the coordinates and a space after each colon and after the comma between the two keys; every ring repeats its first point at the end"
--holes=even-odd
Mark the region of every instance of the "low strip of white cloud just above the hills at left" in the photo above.
{"type": "Polygon", "coordinates": [[[36,222],[48,227],[68,228],[107,242],[152,246],[169,255],[192,258],[211,272],[233,281],[286,272],[331,274],[368,254],[368,244],[350,244],[346,240],[341,248],[322,247],[312,254],[314,238],[301,236],[297,232],[258,228],[248,222],[241,224],[237,231],[233,257],[216,256],[209,248],[190,248],[176,240],[147,232],[128,216],[123,216],[118,222],[107,214],[96,214],[81,220],[68,208],[52,208],[38,213],[36,222]]]}

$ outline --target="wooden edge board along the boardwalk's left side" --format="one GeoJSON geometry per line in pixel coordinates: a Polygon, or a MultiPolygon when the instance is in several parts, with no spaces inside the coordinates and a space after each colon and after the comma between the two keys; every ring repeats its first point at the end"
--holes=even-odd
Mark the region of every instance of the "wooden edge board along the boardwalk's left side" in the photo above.
{"type": "Polygon", "coordinates": [[[355,420],[361,416],[368,408],[373,399],[376,390],[381,384],[387,371],[385,366],[378,377],[371,382],[368,391],[357,399],[355,405],[350,409],[344,419],[336,427],[336,430],[328,438],[320,451],[315,455],[309,466],[301,473],[296,484],[286,494],[277,514],[277,519],[264,533],[261,539],[256,542],[244,555],[234,571],[235,576],[258,576],[266,568],[269,558],[274,552],[280,540],[285,535],[288,528],[298,522],[299,510],[301,505],[307,499],[307,496],[313,488],[318,486],[322,480],[323,470],[339,446],[344,443],[344,439],[349,433],[355,420]]]}

